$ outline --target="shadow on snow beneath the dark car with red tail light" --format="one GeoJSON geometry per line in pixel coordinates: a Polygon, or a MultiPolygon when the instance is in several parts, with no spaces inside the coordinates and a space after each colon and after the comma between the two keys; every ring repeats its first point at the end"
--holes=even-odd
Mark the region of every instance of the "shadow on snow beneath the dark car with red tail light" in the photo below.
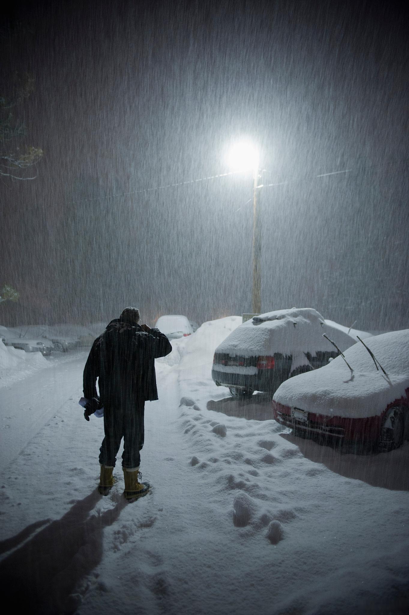
{"type": "Polygon", "coordinates": [[[237,416],[253,421],[271,421],[273,419],[273,410],[271,408],[272,394],[255,393],[246,399],[238,399],[238,397],[225,397],[215,402],[209,400],[206,404],[208,410],[222,412],[227,416],[237,416]]]}

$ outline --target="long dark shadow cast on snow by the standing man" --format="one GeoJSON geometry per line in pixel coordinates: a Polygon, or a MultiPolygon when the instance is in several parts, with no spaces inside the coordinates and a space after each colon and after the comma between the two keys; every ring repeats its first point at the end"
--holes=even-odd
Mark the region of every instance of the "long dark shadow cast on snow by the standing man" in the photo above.
{"type": "MultiPolygon", "coordinates": [[[[101,561],[103,529],[112,525],[128,504],[121,499],[113,509],[88,516],[101,497],[93,491],[0,562],[4,603],[30,614],[69,615],[77,611],[79,604],[72,591],[101,561]]],[[[0,542],[0,553],[17,547],[47,522],[33,523],[0,542]]]]}

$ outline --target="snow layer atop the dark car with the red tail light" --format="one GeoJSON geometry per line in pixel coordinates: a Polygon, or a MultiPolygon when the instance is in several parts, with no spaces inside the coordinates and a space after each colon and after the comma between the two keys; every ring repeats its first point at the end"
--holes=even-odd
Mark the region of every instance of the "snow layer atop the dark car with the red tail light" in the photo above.
{"type": "Polygon", "coordinates": [[[216,352],[242,356],[273,355],[275,352],[294,353],[335,352],[322,335],[329,336],[341,351],[354,344],[354,339],[340,328],[325,322],[313,308],[292,308],[260,314],[236,328],[217,347],[216,352]]]}

